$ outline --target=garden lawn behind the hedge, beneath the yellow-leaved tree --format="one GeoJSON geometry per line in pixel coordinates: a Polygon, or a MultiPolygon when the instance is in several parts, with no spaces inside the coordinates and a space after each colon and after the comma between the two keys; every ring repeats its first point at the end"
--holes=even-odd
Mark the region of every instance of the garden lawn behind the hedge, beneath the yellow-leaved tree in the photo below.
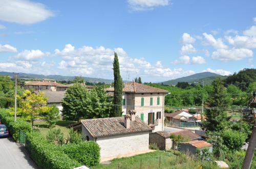
{"type": "MultiPolygon", "coordinates": [[[[69,128],[67,128],[67,126],[72,123],[76,123],[76,122],[59,120],[53,129],[60,129],[61,132],[64,133],[64,136],[67,137],[69,134],[69,128]]],[[[39,127],[40,133],[44,136],[46,136],[48,131],[50,130],[46,122],[34,122],[34,126],[39,127]]]]}

